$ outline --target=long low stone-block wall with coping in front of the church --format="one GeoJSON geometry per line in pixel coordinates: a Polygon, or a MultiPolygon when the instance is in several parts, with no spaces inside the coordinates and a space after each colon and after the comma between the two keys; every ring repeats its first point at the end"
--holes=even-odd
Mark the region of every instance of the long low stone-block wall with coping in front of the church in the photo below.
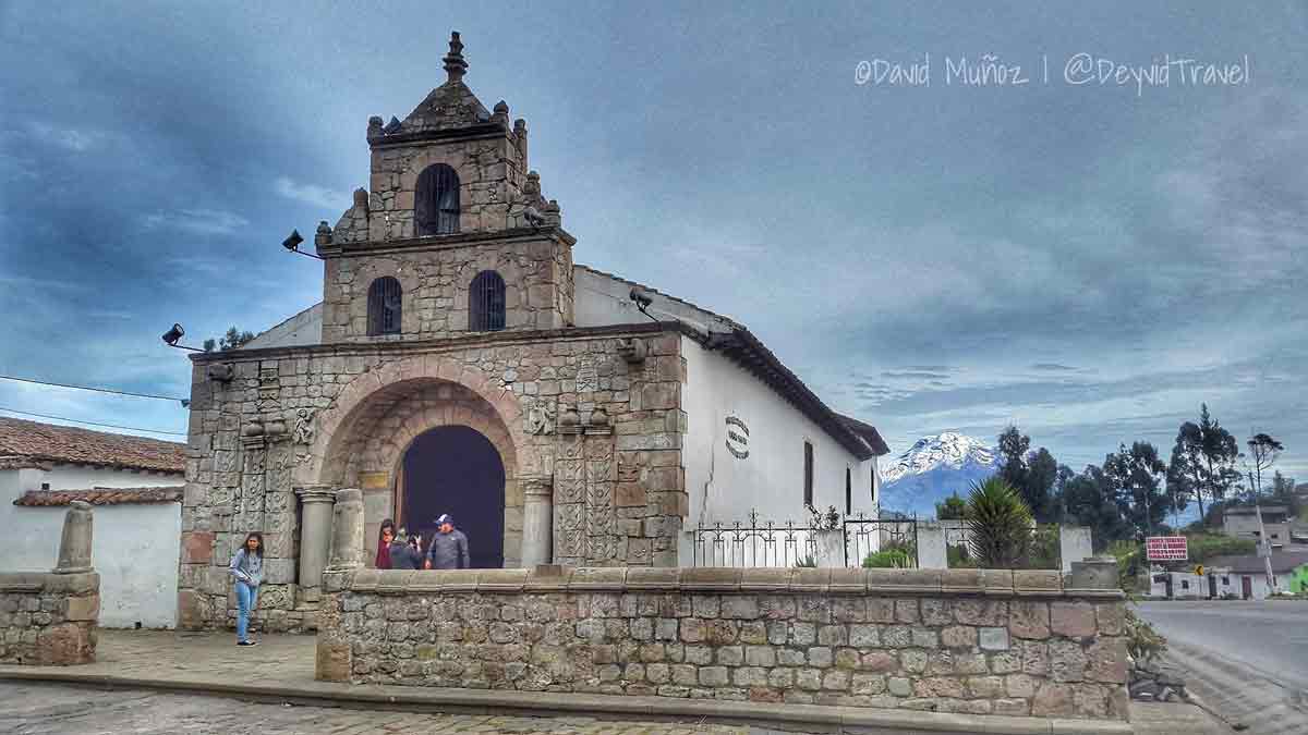
{"type": "Polygon", "coordinates": [[[1101,572],[328,573],[318,677],[1125,719],[1101,572]]]}

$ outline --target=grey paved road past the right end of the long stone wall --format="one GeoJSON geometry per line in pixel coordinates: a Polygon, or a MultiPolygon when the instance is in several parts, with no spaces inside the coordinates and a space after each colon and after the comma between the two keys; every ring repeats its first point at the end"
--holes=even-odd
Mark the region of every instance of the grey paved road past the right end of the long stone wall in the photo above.
{"type": "Polygon", "coordinates": [[[1248,732],[1308,735],[1308,604],[1141,603],[1168,660],[1197,694],[1248,732]]]}

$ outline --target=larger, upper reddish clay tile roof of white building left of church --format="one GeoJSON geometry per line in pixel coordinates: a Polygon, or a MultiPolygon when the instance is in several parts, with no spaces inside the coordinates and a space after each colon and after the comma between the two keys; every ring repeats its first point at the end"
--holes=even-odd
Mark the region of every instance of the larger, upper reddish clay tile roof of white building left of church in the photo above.
{"type": "Polygon", "coordinates": [[[59,462],[181,473],[186,466],[186,445],[0,417],[0,462],[25,462],[27,467],[59,462]]]}

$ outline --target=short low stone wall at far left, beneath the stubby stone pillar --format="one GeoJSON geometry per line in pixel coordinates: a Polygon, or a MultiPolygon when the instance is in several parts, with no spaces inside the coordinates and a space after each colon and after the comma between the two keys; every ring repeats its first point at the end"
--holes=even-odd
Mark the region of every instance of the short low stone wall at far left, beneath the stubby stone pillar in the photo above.
{"type": "Polygon", "coordinates": [[[99,574],[0,573],[0,663],[95,660],[99,574]]]}

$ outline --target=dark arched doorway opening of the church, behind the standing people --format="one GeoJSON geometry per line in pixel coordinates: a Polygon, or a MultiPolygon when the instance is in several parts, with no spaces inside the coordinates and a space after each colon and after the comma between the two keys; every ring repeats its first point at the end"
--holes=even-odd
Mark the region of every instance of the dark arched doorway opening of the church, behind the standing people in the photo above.
{"type": "Polygon", "coordinates": [[[404,451],[396,477],[396,521],[422,535],[424,547],[442,513],[468,538],[473,569],[504,566],[504,462],[470,426],[437,426],[404,451]]]}

